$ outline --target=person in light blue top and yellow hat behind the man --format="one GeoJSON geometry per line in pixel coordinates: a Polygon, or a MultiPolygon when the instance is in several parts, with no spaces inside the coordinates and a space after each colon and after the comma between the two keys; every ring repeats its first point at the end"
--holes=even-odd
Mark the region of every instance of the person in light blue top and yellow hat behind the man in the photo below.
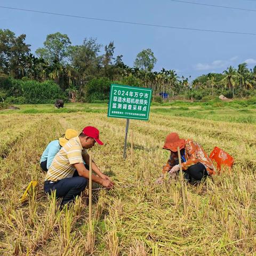
{"type": "Polygon", "coordinates": [[[47,145],[40,160],[40,166],[43,171],[47,172],[52,164],[53,158],[60,151],[61,147],[63,147],[70,139],[76,137],[77,135],[78,132],[76,130],[67,129],[61,138],[58,140],[53,140],[47,145]]]}

